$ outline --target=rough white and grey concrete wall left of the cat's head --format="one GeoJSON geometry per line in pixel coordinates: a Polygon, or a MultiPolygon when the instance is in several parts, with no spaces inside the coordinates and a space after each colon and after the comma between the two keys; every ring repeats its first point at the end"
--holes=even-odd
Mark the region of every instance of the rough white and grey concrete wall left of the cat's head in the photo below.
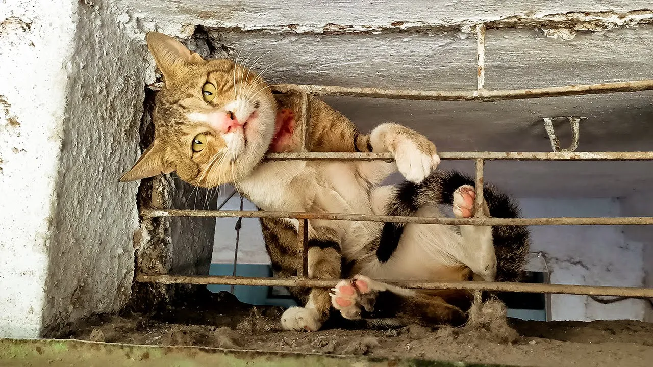
{"type": "Polygon", "coordinates": [[[33,338],[129,297],[144,49],[103,1],[0,14],[0,336],[33,338]]]}

